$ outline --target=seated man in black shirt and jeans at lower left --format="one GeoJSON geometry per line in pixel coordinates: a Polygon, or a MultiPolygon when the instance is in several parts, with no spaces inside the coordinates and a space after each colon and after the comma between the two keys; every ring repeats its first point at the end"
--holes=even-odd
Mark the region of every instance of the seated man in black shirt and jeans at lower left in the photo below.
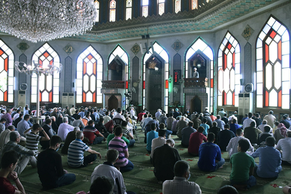
{"type": "Polygon", "coordinates": [[[72,184],[76,180],[75,174],[68,174],[63,169],[62,157],[57,152],[61,143],[62,139],[59,136],[52,136],[49,148],[38,155],[37,173],[44,189],[72,184]]]}

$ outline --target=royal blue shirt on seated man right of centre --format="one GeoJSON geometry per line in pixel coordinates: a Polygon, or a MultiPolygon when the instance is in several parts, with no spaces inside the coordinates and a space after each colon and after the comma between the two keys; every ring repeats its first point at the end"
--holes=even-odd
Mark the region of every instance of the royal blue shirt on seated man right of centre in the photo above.
{"type": "Polygon", "coordinates": [[[199,147],[198,167],[202,171],[214,171],[215,160],[221,161],[221,151],[219,146],[211,142],[201,144],[199,147]]]}

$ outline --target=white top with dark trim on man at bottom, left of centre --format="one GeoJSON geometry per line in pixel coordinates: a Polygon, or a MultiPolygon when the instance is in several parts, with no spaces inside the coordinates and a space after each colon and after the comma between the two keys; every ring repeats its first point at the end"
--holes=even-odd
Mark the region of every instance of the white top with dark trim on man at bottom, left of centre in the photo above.
{"type": "Polygon", "coordinates": [[[93,183],[93,181],[96,178],[101,177],[101,176],[105,176],[105,177],[113,179],[113,181],[114,181],[113,194],[118,194],[118,187],[117,187],[117,184],[115,182],[115,179],[118,178],[120,189],[121,189],[121,194],[127,194],[122,174],[113,165],[107,165],[107,164],[98,165],[94,169],[94,171],[91,175],[91,184],[93,183]]]}

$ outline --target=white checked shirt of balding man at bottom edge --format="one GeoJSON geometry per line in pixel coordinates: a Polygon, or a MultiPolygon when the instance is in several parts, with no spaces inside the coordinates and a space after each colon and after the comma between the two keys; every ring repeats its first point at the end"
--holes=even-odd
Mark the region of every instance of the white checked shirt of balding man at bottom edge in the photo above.
{"type": "Polygon", "coordinates": [[[174,180],[166,180],[162,183],[163,194],[202,194],[199,185],[188,182],[186,178],[174,177],[174,180]]]}

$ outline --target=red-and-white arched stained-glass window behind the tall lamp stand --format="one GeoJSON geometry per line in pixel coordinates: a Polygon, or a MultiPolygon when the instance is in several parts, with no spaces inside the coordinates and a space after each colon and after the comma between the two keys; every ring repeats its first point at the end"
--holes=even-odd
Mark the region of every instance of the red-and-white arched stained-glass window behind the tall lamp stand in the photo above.
{"type": "MultiPolygon", "coordinates": [[[[48,43],[45,43],[42,47],[36,50],[32,55],[32,61],[36,64],[43,66],[48,65],[60,66],[60,57],[58,53],[50,47],[48,43]]],[[[33,65],[33,64],[32,64],[33,65]]],[[[40,75],[39,91],[36,90],[36,74],[32,74],[32,94],[31,102],[36,103],[37,92],[40,93],[40,102],[53,102],[59,103],[60,99],[60,74],[53,75],[40,75]]]]}

